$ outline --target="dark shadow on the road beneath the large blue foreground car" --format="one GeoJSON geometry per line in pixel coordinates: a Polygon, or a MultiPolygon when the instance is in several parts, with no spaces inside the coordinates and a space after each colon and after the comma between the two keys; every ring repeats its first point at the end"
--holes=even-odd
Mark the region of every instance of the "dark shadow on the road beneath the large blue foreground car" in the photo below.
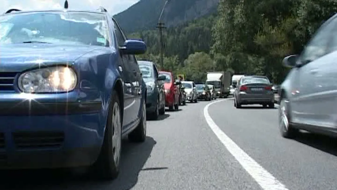
{"type": "Polygon", "coordinates": [[[93,190],[93,189],[131,189],[138,181],[142,170],[167,169],[166,167],[145,168],[144,164],[151,156],[156,141],[147,137],[144,143],[122,142],[122,160],[120,173],[114,181],[94,180],[86,169],[76,170],[16,170],[1,171],[1,190],[93,190]]]}

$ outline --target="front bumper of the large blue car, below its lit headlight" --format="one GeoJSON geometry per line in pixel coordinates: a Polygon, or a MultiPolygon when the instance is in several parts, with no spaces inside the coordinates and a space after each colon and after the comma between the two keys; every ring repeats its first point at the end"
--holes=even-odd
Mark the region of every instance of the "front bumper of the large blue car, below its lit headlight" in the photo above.
{"type": "Polygon", "coordinates": [[[59,168],[97,159],[105,121],[78,93],[0,94],[0,168],[59,168]]]}

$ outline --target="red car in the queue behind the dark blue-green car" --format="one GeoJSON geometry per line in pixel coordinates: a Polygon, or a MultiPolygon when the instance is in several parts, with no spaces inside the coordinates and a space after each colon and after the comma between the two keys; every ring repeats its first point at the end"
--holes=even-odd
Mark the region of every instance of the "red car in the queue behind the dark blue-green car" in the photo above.
{"type": "Polygon", "coordinates": [[[174,76],[172,72],[169,71],[159,71],[159,75],[164,75],[166,79],[164,80],[165,88],[165,106],[170,110],[179,109],[179,84],[174,82],[174,76]]]}

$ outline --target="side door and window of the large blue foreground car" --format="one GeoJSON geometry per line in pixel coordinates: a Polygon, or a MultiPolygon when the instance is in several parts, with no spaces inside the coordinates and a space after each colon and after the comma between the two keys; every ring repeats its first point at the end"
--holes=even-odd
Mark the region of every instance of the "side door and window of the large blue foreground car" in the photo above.
{"type": "MultiPolygon", "coordinates": [[[[113,27],[115,30],[115,36],[117,39],[117,45],[119,47],[124,45],[125,36],[123,35],[122,31],[118,27],[118,24],[113,20],[113,27]]],[[[130,126],[135,120],[135,96],[134,96],[134,74],[133,74],[133,67],[130,62],[129,55],[122,55],[120,54],[120,58],[122,62],[118,65],[120,74],[124,80],[124,114],[123,114],[123,129],[130,126]]]]}

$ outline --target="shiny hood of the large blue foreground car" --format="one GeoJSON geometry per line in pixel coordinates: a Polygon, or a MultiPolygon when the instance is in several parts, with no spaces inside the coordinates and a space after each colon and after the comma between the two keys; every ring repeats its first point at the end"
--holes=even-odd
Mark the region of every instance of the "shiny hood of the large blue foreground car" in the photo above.
{"type": "Polygon", "coordinates": [[[55,63],[71,64],[86,53],[102,47],[53,44],[11,44],[0,46],[0,72],[21,72],[55,63]]]}

